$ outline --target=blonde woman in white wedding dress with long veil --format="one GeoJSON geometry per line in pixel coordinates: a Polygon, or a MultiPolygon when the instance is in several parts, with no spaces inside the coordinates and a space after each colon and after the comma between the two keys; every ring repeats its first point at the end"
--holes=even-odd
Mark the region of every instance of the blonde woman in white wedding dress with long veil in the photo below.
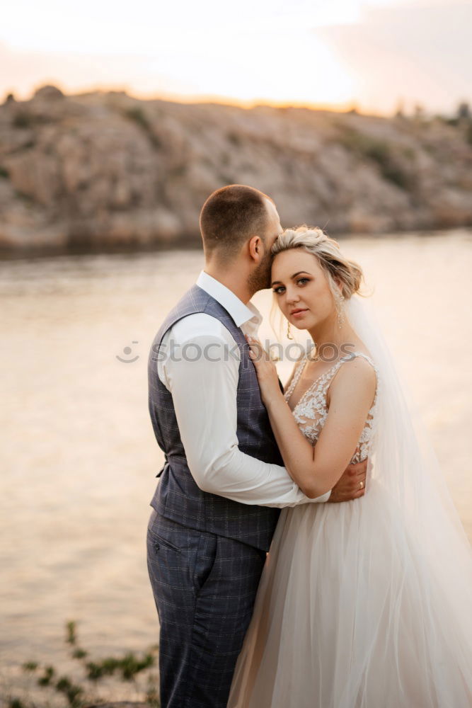
{"type": "Polygon", "coordinates": [[[470,707],[471,547],[356,295],[362,271],[321,229],[288,229],[272,253],[277,304],[313,339],[284,394],[248,340],[284,464],[316,497],[369,457],[367,493],[282,510],[228,708],[470,707]]]}

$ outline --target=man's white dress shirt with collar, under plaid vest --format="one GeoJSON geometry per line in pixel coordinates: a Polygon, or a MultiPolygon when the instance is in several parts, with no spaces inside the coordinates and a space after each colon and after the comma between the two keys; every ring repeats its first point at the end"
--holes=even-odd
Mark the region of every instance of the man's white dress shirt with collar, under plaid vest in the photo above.
{"type": "MultiPolygon", "coordinates": [[[[258,336],[262,316],[202,270],[197,285],[212,295],[244,334],[258,336]]],[[[328,501],[305,496],[285,467],[238,448],[236,392],[240,352],[231,333],[203,312],[176,322],[162,340],[158,375],[171,392],[188,467],[202,491],[243,504],[297,506],[328,501]],[[203,355],[205,353],[205,355],[203,355]]]]}

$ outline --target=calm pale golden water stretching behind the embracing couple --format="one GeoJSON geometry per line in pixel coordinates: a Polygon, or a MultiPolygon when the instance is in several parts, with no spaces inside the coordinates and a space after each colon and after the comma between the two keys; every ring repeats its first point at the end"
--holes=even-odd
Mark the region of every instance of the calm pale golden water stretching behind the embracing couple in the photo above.
{"type": "MultiPolygon", "coordinates": [[[[343,250],[374,287],[472,539],[472,231],[348,239],[343,250]]],[[[144,539],[162,455],[146,359],[201,267],[195,251],[0,263],[4,667],[56,661],[66,619],[98,652],[156,641],[144,539]]],[[[270,299],[254,302],[268,314],[270,299]]],[[[274,338],[268,318],[260,334],[274,338]]]]}

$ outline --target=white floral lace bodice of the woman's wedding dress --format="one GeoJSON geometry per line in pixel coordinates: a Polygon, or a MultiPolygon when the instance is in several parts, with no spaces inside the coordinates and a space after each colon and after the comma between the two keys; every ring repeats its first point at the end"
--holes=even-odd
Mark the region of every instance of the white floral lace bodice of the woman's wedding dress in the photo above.
{"type": "MultiPolygon", "coordinates": [[[[294,377],[292,383],[289,385],[286,392],[284,392],[284,398],[289,401],[290,396],[294,392],[294,388],[299,382],[301,372],[304,370],[306,361],[308,359],[309,353],[304,355],[298,364],[294,372],[294,377]]],[[[365,426],[359,438],[359,452],[356,452],[352,456],[351,462],[360,462],[369,455],[370,443],[374,435],[374,421],[375,421],[375,409],[377,403],[377,394],[379,389],[379,370],[367,354],[363,352],[352,352],[345,357],[340,358],[328,371],[319,376],[313,381],[311,386],[306,389],[306,392],[301,396],[301,399],[294,407],[292,413],[294,418],[298,423],[301,432],[306,438],[311,440],[313,445],[315,445],[316,440],[318,440],[318,435],[320,434],[321,428],[323,428],[326,418],[328,417],[328,407],[326,405],[326,396],[328,393],[328,388],[330,383],[333,381],[336,372],[343,365],[344,362],[350,361],[353,356],[361,356],[369,362],[369,364],[374,367],[377,377],[377,385],[374,396],[374,402],[372,404],[369,413],[367,413],[367,419],[365,426]]]]}

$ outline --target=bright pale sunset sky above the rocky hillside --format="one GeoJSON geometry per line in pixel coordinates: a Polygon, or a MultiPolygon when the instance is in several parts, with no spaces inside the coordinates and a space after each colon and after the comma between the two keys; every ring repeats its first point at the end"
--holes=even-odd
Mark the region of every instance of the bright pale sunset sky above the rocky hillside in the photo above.
{"type": "Polygon", "coordinates": [[[136,96],[451,113],[472,103],[471,0],[16,0],[0,95],[136,96]]]}

